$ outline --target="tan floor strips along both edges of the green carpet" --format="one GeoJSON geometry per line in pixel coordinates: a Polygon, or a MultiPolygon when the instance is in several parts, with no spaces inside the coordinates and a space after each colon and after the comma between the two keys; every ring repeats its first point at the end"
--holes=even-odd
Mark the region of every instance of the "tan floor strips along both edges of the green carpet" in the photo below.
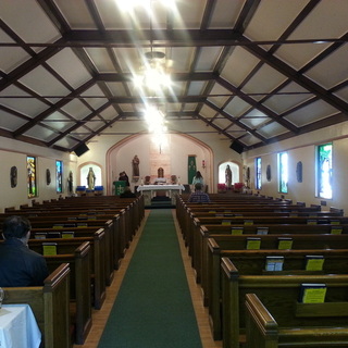
{"type": "MultiPolygon", "coordinates": [[[[107,289],[107,299],[105,299],[105,302],[103,303],[102,309],[99,311],[94,311],[94,313],[92,313],[94,324],[92,324],[92,328],[91,328],[85,344],[84,345],[74,345],[74,348],[97,348],[98,347],[98,343],[99,343],[100,336],[102,334],[103,327],[108,321],[110,311],[111,311],[112,306],[114,303],[114,300],[117,296],[117,291],[120,289],[123,276],[127,270],[127,266],[128,266],[129,261],[132,259],[133,252],[134,252],[136,245],[139,240],[139,237],[142,232],[142,227],[145,225],[145,222],[147,220],[149,212],[150,211],[148,211],[148,210],[146,211],[145,221],[142,222],[139,231],[137,232],[134,240],[132,241],[130,247],[125,254],[125,258],[122,260],[120,270],[117,270],[115,272],[113,283],[107,289]]],[[[187,254],[187,249],[185,248],[184,240],[182,238],[182,233],[178,228],[178,224],[177,224],[177,221],[175,217],[175,210],[173,210],[173,217],[174,217],[176,231],[178,234],[178,240],[179,240],[179,245],[181,245],[184,266],[186,270],[187,281],[188,281],[188,285],[189,285],[189,288],[191,291],[192,303],[194,303],[194,308],[195,308],[195,312],[196,312],[196,316],[197,316],[199,332],[200,332],[201,339],[202,339],[202,347],[203,348],[221,348],[222,341],[214,341],[211,336],[208,310],[207,310],[207,308],[204,308],[202,306],[201,288],[198,284],[196,284],[194,270],[190,265],[190,258],[187,254]]]]}

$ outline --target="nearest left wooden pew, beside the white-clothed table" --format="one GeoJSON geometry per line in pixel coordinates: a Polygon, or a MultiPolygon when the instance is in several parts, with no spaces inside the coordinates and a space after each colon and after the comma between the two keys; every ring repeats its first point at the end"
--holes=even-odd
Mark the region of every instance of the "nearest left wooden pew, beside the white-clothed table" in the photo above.
{"type": "Polygon", "coordinates": [[[70,333],[70,268],[60,264],[44,286],[5,287],[4,304],[30,306],[42,334],[42,348],[72,347],[70,333]]]}

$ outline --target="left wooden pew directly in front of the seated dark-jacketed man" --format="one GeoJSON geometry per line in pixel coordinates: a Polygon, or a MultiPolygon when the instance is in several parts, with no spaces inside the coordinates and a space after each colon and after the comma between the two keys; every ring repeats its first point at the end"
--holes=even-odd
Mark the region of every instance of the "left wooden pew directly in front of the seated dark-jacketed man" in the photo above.
{"type": "MultiPolygon", "coordinates": [[[[36,252],[41,247],[30,246],[36,252]]],[[[57,256],[45,256],[50,272],[61,263],[70,263],[70,299],[72,324],[75,325],[75,343],[83,345],[92,324],[91,318],[91,271],[90,244],[85,241],[79,246],[59,246],[57,256]]]]}

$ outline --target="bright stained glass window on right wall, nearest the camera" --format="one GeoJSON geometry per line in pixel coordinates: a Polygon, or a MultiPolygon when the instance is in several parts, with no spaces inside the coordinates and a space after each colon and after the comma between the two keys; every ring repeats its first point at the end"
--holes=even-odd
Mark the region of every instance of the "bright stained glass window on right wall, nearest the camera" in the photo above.
{"type": "Polygon", "coordinates": [[[333,145],[320,145],[316,148],[316,191],[321,198],[333,198],[332,177],[333,177],[333,145]]]}

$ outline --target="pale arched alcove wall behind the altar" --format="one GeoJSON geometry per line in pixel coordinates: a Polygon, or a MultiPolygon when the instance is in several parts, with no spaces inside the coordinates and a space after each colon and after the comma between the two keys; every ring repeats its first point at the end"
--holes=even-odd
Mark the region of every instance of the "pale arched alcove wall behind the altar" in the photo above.
{"type": "Polygon", "coordinates": [[[159,178],[159,169],[163,170],[163,178],[166,183],[171,183],[172,175],[176,175],[181,184],[191,184],[187,182],[187,162],[188,156],[192,154],[196,156],[197,171],[202,173],[206,183],[212,187],[213,156],[211,149],[200,140],[187,135],[167,134],[165,140],[159,145],[151,134],[139,134],[112,146],[107,152],[108,195],[113,195],[112,183],[123,171],[129,177],[132,190],[144,184],[147,176],[150,176],[150,183],[153,184],[159,178]],[[132,175],[132,160],[135,156],[139,159],[139,177],[132,175]]]}

